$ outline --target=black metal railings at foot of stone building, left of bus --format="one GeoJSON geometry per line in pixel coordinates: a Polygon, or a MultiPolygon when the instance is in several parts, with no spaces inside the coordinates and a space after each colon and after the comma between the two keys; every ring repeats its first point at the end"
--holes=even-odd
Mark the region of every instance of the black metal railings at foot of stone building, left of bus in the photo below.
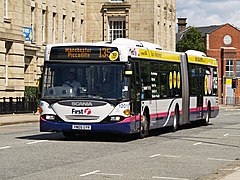
{"type": "Polygon", "coordinates": [[[0,114],[32,113],[36,111],[37,100],[35,98],[0,98],[0,114]]]}

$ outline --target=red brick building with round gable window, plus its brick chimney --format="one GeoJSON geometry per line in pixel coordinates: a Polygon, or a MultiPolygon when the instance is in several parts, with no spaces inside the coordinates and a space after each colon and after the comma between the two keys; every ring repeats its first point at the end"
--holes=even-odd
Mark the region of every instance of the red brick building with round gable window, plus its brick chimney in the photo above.
{"type": "MultiPolygon", "coordinates": [[[[187,30],[186,18],[179,19],[179,24],[178,39],[187,30]]],[[[240,30],[228,23],[197,29],[202,33],[207,55],[218,60],[219,103],[240,104],[240,30]],[[232,78],[239,78],[235,90],[232,89],[232,78]]]]}

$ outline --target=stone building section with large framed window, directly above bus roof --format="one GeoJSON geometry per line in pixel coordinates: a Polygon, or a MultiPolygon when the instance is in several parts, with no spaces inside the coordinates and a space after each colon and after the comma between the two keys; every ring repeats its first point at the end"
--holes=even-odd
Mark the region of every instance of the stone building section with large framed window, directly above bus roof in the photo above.
{"type": "Polygon", "coordinates": [[[87,0],[86,40],[118,37],[175,50],[176,0],[87,0]]]}

